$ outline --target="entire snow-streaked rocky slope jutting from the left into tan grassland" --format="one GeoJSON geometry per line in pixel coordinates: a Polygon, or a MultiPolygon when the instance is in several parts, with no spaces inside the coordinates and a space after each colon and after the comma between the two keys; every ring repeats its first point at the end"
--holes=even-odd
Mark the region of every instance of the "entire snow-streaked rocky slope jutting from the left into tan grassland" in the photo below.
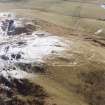
{"type": "Polygon", "coordinates": [[[45,60],[64,51],[66,41],[12,13],[0,14],[0,39],[0,105],[49,105],[47,92],[28,77],[46,73],[45,60]]]}

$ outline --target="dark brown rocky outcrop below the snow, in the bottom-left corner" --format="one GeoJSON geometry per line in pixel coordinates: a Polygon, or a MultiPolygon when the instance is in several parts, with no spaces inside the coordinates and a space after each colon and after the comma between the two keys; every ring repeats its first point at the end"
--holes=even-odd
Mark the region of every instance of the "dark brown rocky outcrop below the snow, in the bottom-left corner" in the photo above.
{"type": "Polygon", "coordinates": [[[27,79],[0,77],[0,105],[45,105],[47,97],[43,87],[27,79]]]}

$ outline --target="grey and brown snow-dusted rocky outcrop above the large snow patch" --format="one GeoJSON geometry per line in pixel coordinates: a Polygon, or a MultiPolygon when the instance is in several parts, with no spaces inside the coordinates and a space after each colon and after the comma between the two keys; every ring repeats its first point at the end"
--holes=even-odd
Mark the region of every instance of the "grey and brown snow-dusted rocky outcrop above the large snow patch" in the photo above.
{"type": "MultiPolygon", "coordinates": [[[[28,20],[27,20],[28,21],[28,20]]],[[[32,34],[36,27],[25,19],[16,18],[14,14],[4,13],[1,16],[0,31],[2,35],[32,34]]]]}

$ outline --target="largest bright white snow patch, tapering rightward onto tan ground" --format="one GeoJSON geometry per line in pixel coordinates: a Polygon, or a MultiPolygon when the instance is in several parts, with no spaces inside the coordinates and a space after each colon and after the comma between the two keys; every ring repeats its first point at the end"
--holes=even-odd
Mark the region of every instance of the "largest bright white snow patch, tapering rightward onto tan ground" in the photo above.
{"type": "MultiPolygon", "coordinates": [[[[52,36],[50,33],[43,32],[44,36],[38,36],[41,31],[37,31],[34,35],[24,35],[21,41],[25,41],[26,45],[18,46],[16,43],[10,43],[6,46],[9,46],[8,52],[5,52],[5,47],[2,46],[0,49],[0,55],[11,57],[11,54],[21,53],[22,58],[16,61],[21,62],[36,62],[41,61],[43,58],[52,54],[53,51],[60,53],[68,47],[68,43],[58,36],[52,36]]],[[[18,39],[19,40],[19,39],[18,39]]],[[[11,59],[11,58],[10,58],[11,59]]]]}

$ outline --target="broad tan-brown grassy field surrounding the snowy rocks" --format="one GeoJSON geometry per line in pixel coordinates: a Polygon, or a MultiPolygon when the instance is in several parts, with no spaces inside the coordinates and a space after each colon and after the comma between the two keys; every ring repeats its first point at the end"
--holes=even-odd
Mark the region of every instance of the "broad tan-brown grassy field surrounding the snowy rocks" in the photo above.
{"type": "Polygon", "coordinates": [[[41,29],[72,42],[64,56],[46,61],[47,73],[30,81],[52,105],[105,104],[105,0],[5,0],[0,12],[37,20],[41,29]]]}

